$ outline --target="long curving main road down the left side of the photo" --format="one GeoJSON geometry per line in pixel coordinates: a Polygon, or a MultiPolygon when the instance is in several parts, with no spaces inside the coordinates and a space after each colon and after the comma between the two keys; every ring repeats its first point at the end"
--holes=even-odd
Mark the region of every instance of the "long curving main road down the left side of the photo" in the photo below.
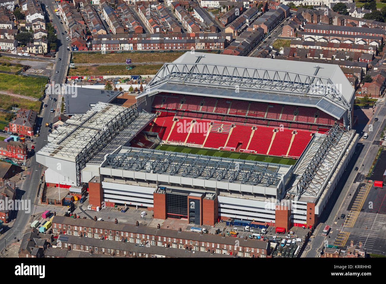
{"type": "MultiPolygon", "coordinates": [[[[64,32],[63,24],[60,24],[58,17],[55,15],[55,3],[50,0],[42,0],[42,3],[49,5],[48,11],[51,15],[52,25],[58,30],[58,52],[55,61],[54,70],[52,70],[51,82],[64,83],[66,77],[66,66],[68,65],[69,51],[67,51],[67,43],[66,43],[66,34],[62,35],[64,32]],[[63,60],[58,61],[58,58],[62,58],[63,60]],[[58,71],[58,73],[56,73],[58,71]]],[[[9,54],[7,54],[9,55],[9,54]]],[[[39,58],[41,59],[41,58],[39,58]]],[[[58,99],[59,94],[51,94],[52,97],[58,99]]],[[[54,112],[50,113],[51,107],[56,108],[59,104],[58,102],[54,103],[53,100],[44,100],[44,104],[49,104],[49,107],[44,107],[42,109],[41,116],[38,117],[37,124],[44,125],[46,122],[51,122],[55,116],[58,116],[58,113],[54,112]]],[[[47,142],[48,129],[42,127],[41,133],[39,137],[34,137],[34,145],[35,151],[39,151],[47,142]]],[[[41,178],[41,173],[43,172],[43,167],[39,163],[36,162],[36,156],[33,155],[26,163],[27,170],[25,171],[25,179],[19,184],[19,190],[17,190],[17,199],[24,199],[31,201],[30,212],[27,210],[19,210],[16,212],[16,218],[12,221],[11,228],[5,232],[0,238],[0,251],[5,248],[5,244],[9,245],[11,241],[14,241],[14,238],[19,238],[22,236],[24,230],[27,228],[29,223],[30,216],[34,213],[39,213],[41,209],[39,207],[34,206],[34,201],[36,201],[37,190],[39,188],[39,182],[41,178]],[[5,241],[4,241],[5,240],[5,241]]],[[[36,204],[35,204],[36,205],[36,204]]]]}

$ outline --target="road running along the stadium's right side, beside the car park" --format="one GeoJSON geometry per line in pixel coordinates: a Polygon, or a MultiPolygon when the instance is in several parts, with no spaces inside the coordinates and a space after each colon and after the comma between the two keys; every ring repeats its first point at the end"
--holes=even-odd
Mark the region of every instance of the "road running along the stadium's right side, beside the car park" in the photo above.
{"type": "MultiPolygon", "coordinates": [[[[333,196],[330,198],[331,200],[336,200],[335,203],[330,204],[329,207],[325,209],[322,216],[320,217],[321,223],[318,225],[317,230],[313,233],[313,240],[310,243],[310,249],[305,251],[302,257],[317,257],[320,253],[320,249],[323,247],[323,241],[327,240],[329,243],[333,243],[333,238],[328,238],[326,236],[322,236],[322,230],[325,225],[334,225],[334,222],[337,221],[338,216],[340,214],[347,214],[347,205],[350,202],[351,198],[349,198],[349,194],[352,193],[353,190],[356,189],[357,185],[354,185],[354,181],[357,176],[357,172],[355,171],[355,167],[359,168],[359,173],[366,175],[369,172],[369,169],[374,161],[374,158],[378,152],[378,145],[373,145],[374,140],[379,139],[379,135],[382,132],[382,129],[386,125],[386,108],[383,105],[379,105],[378,109],[372,119],[368,124],[358,124],[354,127],[357,133],[363,134],[364,132],[369,133],[369,137],[367,139],[361,139],[358,142],[357,146],[357,155],[352,158],[350,165],[347,167],[347,173],[342,175],[341,181],[337,185],[337,189],[342,188],[339,192],[335,192],[333,196]],[[378,117],[378,121],[374,122],[374,117],[378,117]],[[373,124],[373,130],[369,131],[369,124],[373,124]],[[363,165],[363,166],[362,166],[363,165]],[[349,171],[350,169],[350,171],[349,171]],[[326,216],[326,213],[328,216],[326,216]]],[[[340,219],[337,221],[335,226],[340,226],[343,224],[343,220],[340,219]]],[[[341,230],[347,231],[347,228],[342,226],[341,230]]],[[[350,228],[349,230],[354,230],[350,228]]],[[[332,235],[332,232],[329,234],[332,235]]]]}

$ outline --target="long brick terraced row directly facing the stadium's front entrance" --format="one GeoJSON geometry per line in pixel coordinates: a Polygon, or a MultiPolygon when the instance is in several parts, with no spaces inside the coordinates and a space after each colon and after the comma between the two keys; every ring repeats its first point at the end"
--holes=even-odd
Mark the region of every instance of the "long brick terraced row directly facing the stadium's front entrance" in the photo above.
{"type": "MultiPolygon", "coordinates": [[[[235,238],[229,236],[192,233],[181,229],[161,229],[159,225],[157,228],[151,228],[139,226],[138,221],[136,225],[118,223],[117,219],[114,223],[97,221],[96,217],[92,220],[54,216],[52,232],[61,236],[68,236],[68,240],[60,241],[62,244],[59,247],[66,248],[71,245],[71,249],[86,250],[85,246],[88,243],[88,250],[95,253],[111,253],[111,250],[114,250],[116,255],[121,256],[130,255],[130,250],[122,247],[122,243],[125,242],[148,244],[149,253],[151,253],[152,247],[164,247],[212,254],[237,255],[239,257],[267,257],[271,248],[269,242],[266,241],[240,239],[239,243],[236,243],[235,238]],[[83,244],[75,242],[75,239],[78,240],[80,237],[85,239],[83,244]],[[97,242],[91,241],[91,239],[97,240],[97,242]],[[102,243],[101,240],[107,242],[102,243]],[[116,241],[116,245],[112,244],[112,241],[116,241]],[[74,248],[73,245],[76,247],[74,248]],[[78,247],[78,245],[82,247],[78,247]]],[[[58,242],[61,240],[61,236],[59,236],[58,242]]]]}

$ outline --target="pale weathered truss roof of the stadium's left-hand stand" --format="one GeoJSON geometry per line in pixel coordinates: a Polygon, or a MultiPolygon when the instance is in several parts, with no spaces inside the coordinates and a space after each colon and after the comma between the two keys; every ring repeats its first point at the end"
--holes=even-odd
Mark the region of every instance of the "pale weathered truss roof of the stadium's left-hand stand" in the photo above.
{"type": "MultiPolygon", "coordinates": [[[[50,142],[37,152],[37,157],[74,162],[80,172],[86,163],[102,164],[105,155],[129,142],[154,117],[155,114],[139,112],[136,104],[122,107],[99,102],[85,114],[72,116],[51,133],[50,142]]],[[[77,182],[79,184],[80,176],[77,182]]]]}

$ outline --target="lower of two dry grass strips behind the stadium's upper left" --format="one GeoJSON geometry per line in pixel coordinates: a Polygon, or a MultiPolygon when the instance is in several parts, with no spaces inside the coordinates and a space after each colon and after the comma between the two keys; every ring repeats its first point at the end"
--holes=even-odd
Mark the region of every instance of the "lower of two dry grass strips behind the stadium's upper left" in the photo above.
{"type": "Polygon", "coordinates": [[[103,76],[103,75],[154,75],[162,64],[137,65],[133,69],[126,69],[125,65],[78,66],[69,68],[69,76],[103,76]],[[87,70],[86,70],[87,68],[87,70]]]}

